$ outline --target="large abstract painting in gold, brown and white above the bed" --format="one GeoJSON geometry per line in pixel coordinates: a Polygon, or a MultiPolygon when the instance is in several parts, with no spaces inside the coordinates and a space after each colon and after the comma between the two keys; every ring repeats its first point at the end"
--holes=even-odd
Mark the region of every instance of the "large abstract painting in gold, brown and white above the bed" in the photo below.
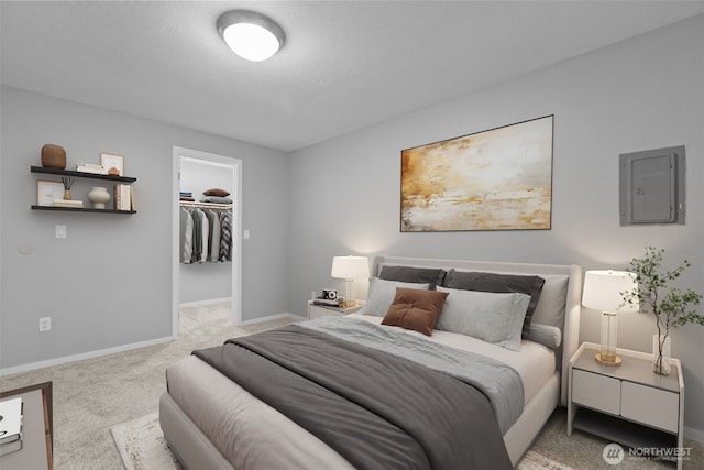
{"type": "Polygon", "coordinates": [[[400,231],[549,230],[553,118],[402,151],[400,231]]]}

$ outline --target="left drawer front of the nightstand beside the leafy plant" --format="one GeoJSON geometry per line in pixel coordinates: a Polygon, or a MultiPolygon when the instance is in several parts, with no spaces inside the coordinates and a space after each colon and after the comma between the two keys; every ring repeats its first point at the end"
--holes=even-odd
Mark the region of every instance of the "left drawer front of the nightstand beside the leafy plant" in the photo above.
{"type": "Polygon", "coordinates": [[[572,370],[572,401],[613,415],[620,414],[620,381],[572,370]]]}

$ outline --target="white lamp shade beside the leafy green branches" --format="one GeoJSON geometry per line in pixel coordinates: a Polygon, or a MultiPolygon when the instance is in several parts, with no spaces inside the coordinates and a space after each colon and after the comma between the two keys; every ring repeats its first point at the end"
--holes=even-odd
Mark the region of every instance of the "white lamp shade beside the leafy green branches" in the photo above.
{"type": "Polygon", "coordinates": [[[626,271],[587,271],[584,274],[582,305],[602,311],[638,311],[638,303],[624,302],[624,292],[638,287],[636,274],[626,271]]]}

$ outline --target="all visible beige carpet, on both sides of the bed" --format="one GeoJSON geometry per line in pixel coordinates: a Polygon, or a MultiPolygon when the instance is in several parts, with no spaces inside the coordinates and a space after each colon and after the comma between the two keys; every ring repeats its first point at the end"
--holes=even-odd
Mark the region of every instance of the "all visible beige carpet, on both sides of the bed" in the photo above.
{"type": "MultiPolygon", "coordinates": [[[[119,470],[124,467],[110,429],[158,409],[169,364],[194,349],[292,321],[282,318],[235,327],[229,316],[228,304],[185,308],[176,341],[10,375],[0,379],[0,391],[52,381],[55,469],[119,470]]],[[[568,438],[565,420],[564,409],[556,411],[531,450],[574,469],[674,468],[669,462],[628,458],[618,466],[607,464],[602,451],[608,441],[580,431],[568,438]]],[[[704,445],[688,440],[685,447],[692,450],[684,469],[704,468],[704,445]]]]}

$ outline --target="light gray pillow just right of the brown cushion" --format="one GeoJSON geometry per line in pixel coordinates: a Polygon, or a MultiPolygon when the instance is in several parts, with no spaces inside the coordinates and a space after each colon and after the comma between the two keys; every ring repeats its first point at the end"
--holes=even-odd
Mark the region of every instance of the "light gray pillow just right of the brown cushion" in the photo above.
{"type": "Polygon", "coordinates": [[[436,329],[468,335],[512,351],[520,350],[520,332],[530,303],[529,295],[437,288],[449,295],[436,329]]]}

